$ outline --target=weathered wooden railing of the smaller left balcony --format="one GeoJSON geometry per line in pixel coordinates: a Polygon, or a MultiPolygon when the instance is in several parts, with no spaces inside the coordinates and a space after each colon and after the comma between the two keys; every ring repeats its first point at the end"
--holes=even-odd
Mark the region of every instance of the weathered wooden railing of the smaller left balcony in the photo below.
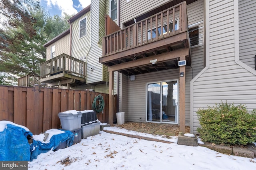
{"type": "Polygon", "coordinates": [[[82,78],[86,77],[86,63],[66,54],[41,63],[40,77],[45,78],[61,72],[66,72],[82,78]]]}

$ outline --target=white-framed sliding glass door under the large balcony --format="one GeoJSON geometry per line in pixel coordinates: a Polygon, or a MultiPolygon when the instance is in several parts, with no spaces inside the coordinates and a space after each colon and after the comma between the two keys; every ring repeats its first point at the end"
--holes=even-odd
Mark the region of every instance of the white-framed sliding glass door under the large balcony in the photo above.
{"type": "Polygon", "coordinates": [[[178,124],[178,80],[147,84],[147,121],[178,124]]]}

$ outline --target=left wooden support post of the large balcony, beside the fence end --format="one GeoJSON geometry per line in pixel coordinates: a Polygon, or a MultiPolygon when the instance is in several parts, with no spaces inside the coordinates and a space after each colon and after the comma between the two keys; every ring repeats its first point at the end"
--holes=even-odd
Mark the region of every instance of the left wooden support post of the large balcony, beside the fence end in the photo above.
{"type": "Polygon", "coordinates": [[[114,121],[114,72],[109,72],[109,99],[108,99],[108,123],[112,126],[114,121]]]}

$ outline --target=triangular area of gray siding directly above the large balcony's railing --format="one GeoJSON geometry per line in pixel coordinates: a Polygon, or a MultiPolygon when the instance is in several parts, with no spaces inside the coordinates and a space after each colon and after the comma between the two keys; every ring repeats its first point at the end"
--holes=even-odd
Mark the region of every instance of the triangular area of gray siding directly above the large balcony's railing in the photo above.
{"type": "Polygon", "coordinates": [[[130,2],[120,0],[120,27],[122,27],[124,22],[136,18],[167,2],[170,2],[170,0],[131,0],[130,2]]]}

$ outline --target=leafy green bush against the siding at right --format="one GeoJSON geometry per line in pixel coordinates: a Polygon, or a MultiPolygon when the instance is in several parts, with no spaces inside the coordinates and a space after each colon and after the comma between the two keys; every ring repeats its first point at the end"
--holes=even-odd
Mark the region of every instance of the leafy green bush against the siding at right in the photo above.
{"type": "Polygon", "coordinates": [[[201,127],[197,129],[204,142],[226,145],[247,145],[256,141],[256,109],[245,105],[221,103],[198,109],[201,127]]]}

